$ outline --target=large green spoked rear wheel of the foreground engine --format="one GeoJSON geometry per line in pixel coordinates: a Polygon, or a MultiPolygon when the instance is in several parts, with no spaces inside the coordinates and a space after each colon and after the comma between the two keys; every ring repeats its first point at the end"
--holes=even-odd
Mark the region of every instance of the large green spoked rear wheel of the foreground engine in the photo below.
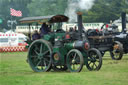
{"type": "Polygon", "coordinates": [[[52,45],[46,40],[35,40],[28,50],[28,63],[35,72],[51,69],[52,45]]]}

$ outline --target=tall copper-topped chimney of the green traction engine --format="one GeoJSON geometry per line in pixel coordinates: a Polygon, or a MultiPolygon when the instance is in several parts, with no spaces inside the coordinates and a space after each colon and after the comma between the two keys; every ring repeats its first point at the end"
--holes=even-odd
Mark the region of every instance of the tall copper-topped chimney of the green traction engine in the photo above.
{"type": "Polygon", "coordinates": [[[79,32],[79,39],[82,40],[82,13],[77,12],[77,23],[78,23],[78,32],[79,32]]]}

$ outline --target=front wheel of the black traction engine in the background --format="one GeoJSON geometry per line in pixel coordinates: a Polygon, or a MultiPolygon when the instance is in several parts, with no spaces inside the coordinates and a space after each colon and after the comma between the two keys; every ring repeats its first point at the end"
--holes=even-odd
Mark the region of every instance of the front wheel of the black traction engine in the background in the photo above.
{"type": "Polygon", "coordinates": [[[113,60],[121,60],[123,57],[123,45],[119,41],[115,41],[112,51],[110,51],[113,60]]]}

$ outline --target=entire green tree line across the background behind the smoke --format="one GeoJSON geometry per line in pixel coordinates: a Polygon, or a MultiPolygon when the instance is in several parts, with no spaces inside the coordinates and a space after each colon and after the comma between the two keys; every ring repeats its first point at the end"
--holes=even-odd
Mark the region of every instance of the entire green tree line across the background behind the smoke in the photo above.
{"type": "MultiPolygon", "coordinates": [[[[70,0],[79,2],[80,0],[70,0]]],[[[10,29],[7,21],[11,19],[10,8],[21,10],[22,17],[65,14],[69,0],[0,0],[0,28],[10,29]]],[[[128,0],[94,0],[94,5],[83,12],[83,22],[109,22],[120,17],[121,12],[128,13],[128,0]]],[[[19,20],[22,17],[12,17],[19,20]]],[[[18,23],[19,24],[19,23],[18,23]]]]}

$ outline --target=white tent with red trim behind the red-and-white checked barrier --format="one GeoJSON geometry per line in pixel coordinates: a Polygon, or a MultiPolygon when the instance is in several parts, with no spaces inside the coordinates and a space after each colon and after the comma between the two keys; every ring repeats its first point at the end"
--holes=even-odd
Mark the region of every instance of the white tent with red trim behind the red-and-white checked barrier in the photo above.
{"type": "Polygon", "coordinates": [[[6,33],[0,33],[0,47],[1,46],[18,46],[24,44],[27,36],[22,33],[15,33],[13,31],[7,31],[6,33]]]}

